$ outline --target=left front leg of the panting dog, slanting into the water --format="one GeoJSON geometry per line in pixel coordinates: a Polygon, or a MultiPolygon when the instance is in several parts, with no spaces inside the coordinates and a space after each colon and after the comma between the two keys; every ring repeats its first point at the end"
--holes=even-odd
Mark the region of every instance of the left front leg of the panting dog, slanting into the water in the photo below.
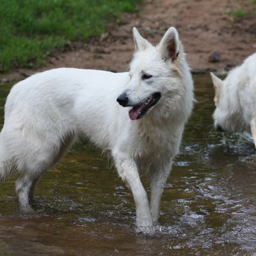
{"type": "Polygon", "coordinates": [[[140,180],[138,167],[134,159],[116,156],[115,164],[120,177],[132,191],[136,205],[136,225],[138,227],[152,227],[148,197],[140,180]]]}

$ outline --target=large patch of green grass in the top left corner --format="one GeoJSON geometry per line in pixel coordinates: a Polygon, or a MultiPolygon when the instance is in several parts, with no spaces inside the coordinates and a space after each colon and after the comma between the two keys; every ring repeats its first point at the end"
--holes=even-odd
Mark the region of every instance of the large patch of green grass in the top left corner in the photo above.
{"type": "Polygon", "coordinates": [[[0,0],[0,72],[39,67],[63,45],[99,36],[140,0],[0,0]]]}

